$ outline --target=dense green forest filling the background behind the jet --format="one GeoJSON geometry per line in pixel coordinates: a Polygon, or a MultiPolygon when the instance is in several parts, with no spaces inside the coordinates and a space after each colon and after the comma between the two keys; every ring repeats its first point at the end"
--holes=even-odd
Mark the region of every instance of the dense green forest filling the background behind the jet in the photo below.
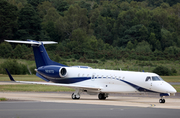
{"type": "MultiPolygon", "coordinates": [[[[57,41],[50,57],[180,58],[179,0],[0,0],[0,57],[32,59],[4,39],[57,41]]],[[[27,53],[27,52],[28,53],[27,53]]]]}

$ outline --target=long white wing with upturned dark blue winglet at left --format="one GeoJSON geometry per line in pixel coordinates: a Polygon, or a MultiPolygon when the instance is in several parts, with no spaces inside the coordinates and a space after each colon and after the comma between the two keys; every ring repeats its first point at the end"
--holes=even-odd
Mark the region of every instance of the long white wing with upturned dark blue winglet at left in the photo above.
{"type": "Polygon", "coordinates": [[[50,83],[50,82],[31,82],[31,81],[15,81],[14,78],[11,76],[10,72],[6,69],[6,72],[11,81],[16,83],[23,83],[23,84],[40,84],[40,85],[53,85],[53,86],[64,86],[69,88],[82,88],[82,89],[91,89],[91,90],[101,90],[100,87],[94,87],[89,85],[78,85],[78,84],[59,84],[59,83],[50,83]]]}

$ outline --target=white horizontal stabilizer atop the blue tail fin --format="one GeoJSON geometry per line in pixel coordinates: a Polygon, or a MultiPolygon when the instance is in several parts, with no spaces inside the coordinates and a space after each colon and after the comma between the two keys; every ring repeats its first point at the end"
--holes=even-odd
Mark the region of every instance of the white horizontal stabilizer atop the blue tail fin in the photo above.
{"type": "Polygon", "coordinates": [[[6,42],[10,43],[24,43],[24,44],[35,44],[35,45],[41,45],[43,44],[56,44],[57,42],[54,41],[33,41],[33,40],[28,40],[28,41],[16,41],[16,40],[4,40],[6,42]]]}

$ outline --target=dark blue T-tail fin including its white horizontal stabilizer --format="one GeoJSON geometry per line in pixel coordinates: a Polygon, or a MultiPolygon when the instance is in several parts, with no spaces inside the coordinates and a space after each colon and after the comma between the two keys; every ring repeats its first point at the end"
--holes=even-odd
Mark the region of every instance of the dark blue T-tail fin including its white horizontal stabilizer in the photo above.
{"type": "Polygon", "coordinates": [[[35,58],[37,68],[39,68],[41,66],[46,66],[46,65],[66,66],[66,65],[52,61],[49,58],[49,56],[46,52],[46,49],[44,48],[44,45],[43,45],[43,44],[56,44],[57,42],[54,42],[54,41],[33,41],[33,40],[28,40],[28,41],[5,40],[5,41],[6,42],[12,42],[12,43],[31,44],[31,46],[33,47],[34,58],[35,58]]]}

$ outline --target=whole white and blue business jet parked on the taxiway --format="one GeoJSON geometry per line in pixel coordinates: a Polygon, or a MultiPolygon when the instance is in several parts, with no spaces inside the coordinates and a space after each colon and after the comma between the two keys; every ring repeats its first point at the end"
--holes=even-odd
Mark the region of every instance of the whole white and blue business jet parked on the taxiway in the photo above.
{"type": "Polygon", "coordinates": [[[15,81],[6,69],[11,81],[25,84],[43,84],[74,88],[72,99],[80,99],[82,92],[97,95],[105,100],[110,93],[159,93],[159,103],[165,103],[164,96],[173,96],[177,92],[159,75],[149,72],[93,69],[88,66],[66,66],[52,61],[44,44],[56,44],[53,41],[15,41],[10,43],[31,44],[33,47],[36,76],[46,82],[15,81]]]}

